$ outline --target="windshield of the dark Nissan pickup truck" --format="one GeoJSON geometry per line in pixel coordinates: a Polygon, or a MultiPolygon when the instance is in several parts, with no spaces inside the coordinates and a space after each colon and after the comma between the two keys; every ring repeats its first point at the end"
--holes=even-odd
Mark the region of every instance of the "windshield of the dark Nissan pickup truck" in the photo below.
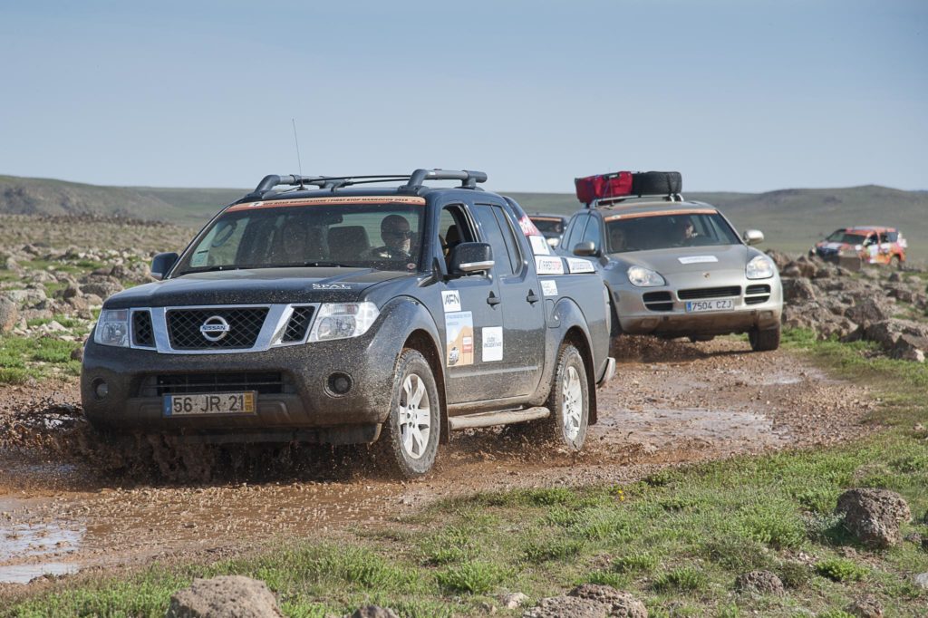
{"type": "Polygon", "coordinates": [[[175,276],[207,270],[352,266],[415,270],[422,206],[340,203],[233,207],[204,229],[175,276]]]}

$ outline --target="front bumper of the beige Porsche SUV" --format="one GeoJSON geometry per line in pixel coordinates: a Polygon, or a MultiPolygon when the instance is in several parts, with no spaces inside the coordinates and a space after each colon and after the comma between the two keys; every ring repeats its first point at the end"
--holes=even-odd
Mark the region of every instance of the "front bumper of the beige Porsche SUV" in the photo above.
{"type": "Polygon", "coordinates": [[[623,332],[672,337],[712,336],[774,328],[780,323],[783,290],[779,277],[748,279],[743,274],[713,277],[708,285],[701,274],[665,278],[671,285],[635,288],[625,284],[612,288],[612,303],[623,332]],[[686,292],[681,294],[684,290],[686,292]],[[687,311],[690,301],[715,300],[729,300],[733,306],[721,311],[687,311]]]}

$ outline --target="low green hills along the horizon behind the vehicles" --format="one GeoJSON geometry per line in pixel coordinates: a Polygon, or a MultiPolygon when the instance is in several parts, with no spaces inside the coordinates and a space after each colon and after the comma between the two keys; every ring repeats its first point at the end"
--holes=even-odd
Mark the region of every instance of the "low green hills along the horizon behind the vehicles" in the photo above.
{"type": "MultiPolygon", "coordinates": [[[[0,213],[115,214],[200,226],[248,189],[98,187],[45,178],[0,176],[0,213]]],[[[580,207],[573,193],[507,193],[527,212],[569,214],[580,207]]],[[[800,252],[845,225],[893,225],[909,238],[910,259],[928,260],[928,191],[868,185],[833,189],[781,189],[767,193],[685,193],[721,208],[741,231],[760,229],[763,247],[800,252]]]]}

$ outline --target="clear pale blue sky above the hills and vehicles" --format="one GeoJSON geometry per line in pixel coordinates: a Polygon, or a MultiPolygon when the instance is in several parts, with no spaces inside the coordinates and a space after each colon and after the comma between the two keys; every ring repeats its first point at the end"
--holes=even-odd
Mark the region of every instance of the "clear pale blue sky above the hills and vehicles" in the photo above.
{"type": "Polygon", "coordinates": [[[928,189],[928,2],[0,4],[0,174],[253,187],[470,168],[573,190],[928,189]]]}

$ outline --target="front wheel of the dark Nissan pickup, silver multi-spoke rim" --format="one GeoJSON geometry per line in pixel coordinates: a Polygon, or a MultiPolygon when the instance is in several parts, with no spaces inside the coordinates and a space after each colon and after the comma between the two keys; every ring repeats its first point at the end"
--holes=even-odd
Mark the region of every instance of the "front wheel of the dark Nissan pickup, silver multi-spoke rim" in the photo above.
{"type": "Polygon", "coordinates": [[[393,374],[390,416],[377,441],[377,458],[390,476],[408,480],[432,470],[441,434],[440,406],[432,367],[416,350],[404,350],[393,374]]]}

